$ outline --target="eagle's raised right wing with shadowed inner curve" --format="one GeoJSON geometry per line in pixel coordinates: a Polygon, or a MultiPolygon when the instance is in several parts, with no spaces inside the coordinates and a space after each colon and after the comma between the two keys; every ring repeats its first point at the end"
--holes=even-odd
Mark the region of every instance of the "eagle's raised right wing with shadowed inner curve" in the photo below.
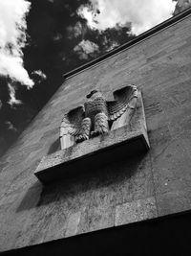
{"type": "Polygon", "coordinates": [[[114,92],[115,101],[107,102],[109,120],[115,121],[128,109],[136,108],[138,89],[135,85],[127,85],[114,92]]]}

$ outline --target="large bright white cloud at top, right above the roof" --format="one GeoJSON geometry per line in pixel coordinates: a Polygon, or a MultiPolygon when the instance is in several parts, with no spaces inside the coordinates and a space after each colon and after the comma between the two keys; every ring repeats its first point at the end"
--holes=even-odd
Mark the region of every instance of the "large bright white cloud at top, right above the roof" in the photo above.
{"type": "Polygon", "coordinates": [[[104,31],[117,24],[132,24],[132,33],[138,35],[172,16],[176,2],[172,0],[91,0],[92,5],[81,6],[78,14],[89,27],[104,31]],[[97,12],[97,10],[99,12],[97,12]]]}

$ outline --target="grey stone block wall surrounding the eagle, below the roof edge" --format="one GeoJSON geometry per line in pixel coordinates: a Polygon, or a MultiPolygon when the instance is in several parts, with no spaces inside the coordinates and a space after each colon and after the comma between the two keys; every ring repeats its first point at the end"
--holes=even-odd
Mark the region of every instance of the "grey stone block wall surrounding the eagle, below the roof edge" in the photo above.
{"type": "Polygon", "coordinates": [[[1,159],[1,251],[191,208],[190,24],[187,16],[64,81],[1,159]],[[142,92],[151,150],[43,187],[33,172],[59,150],[63,112],[124,83],[142,92]]]}

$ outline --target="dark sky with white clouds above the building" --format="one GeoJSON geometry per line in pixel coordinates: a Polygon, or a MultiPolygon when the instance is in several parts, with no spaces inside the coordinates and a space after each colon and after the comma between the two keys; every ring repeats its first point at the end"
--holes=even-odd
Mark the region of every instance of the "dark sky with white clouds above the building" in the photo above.
{"type": "Polygon", "coordinates": [[[191,0],[0,0],[0,155],[63,74],[189,7],[191,0]]]}

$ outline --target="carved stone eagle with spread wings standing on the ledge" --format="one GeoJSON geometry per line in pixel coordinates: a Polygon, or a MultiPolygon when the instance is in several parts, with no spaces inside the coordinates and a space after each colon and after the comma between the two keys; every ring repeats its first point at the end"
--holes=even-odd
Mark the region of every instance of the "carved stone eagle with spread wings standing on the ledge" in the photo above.
{"type": "Polygon", "coordinates": [[[127,85],[114,92],[114,101],[106,101],[97,90],[92,91],[86,98],[84,105],[64,115],[60,128],[62,149],[72,146],[74,142],[79,143],[107,133],[110,128],[127,125],[136,108],[138,89],[135,85],[127,85]]]}

